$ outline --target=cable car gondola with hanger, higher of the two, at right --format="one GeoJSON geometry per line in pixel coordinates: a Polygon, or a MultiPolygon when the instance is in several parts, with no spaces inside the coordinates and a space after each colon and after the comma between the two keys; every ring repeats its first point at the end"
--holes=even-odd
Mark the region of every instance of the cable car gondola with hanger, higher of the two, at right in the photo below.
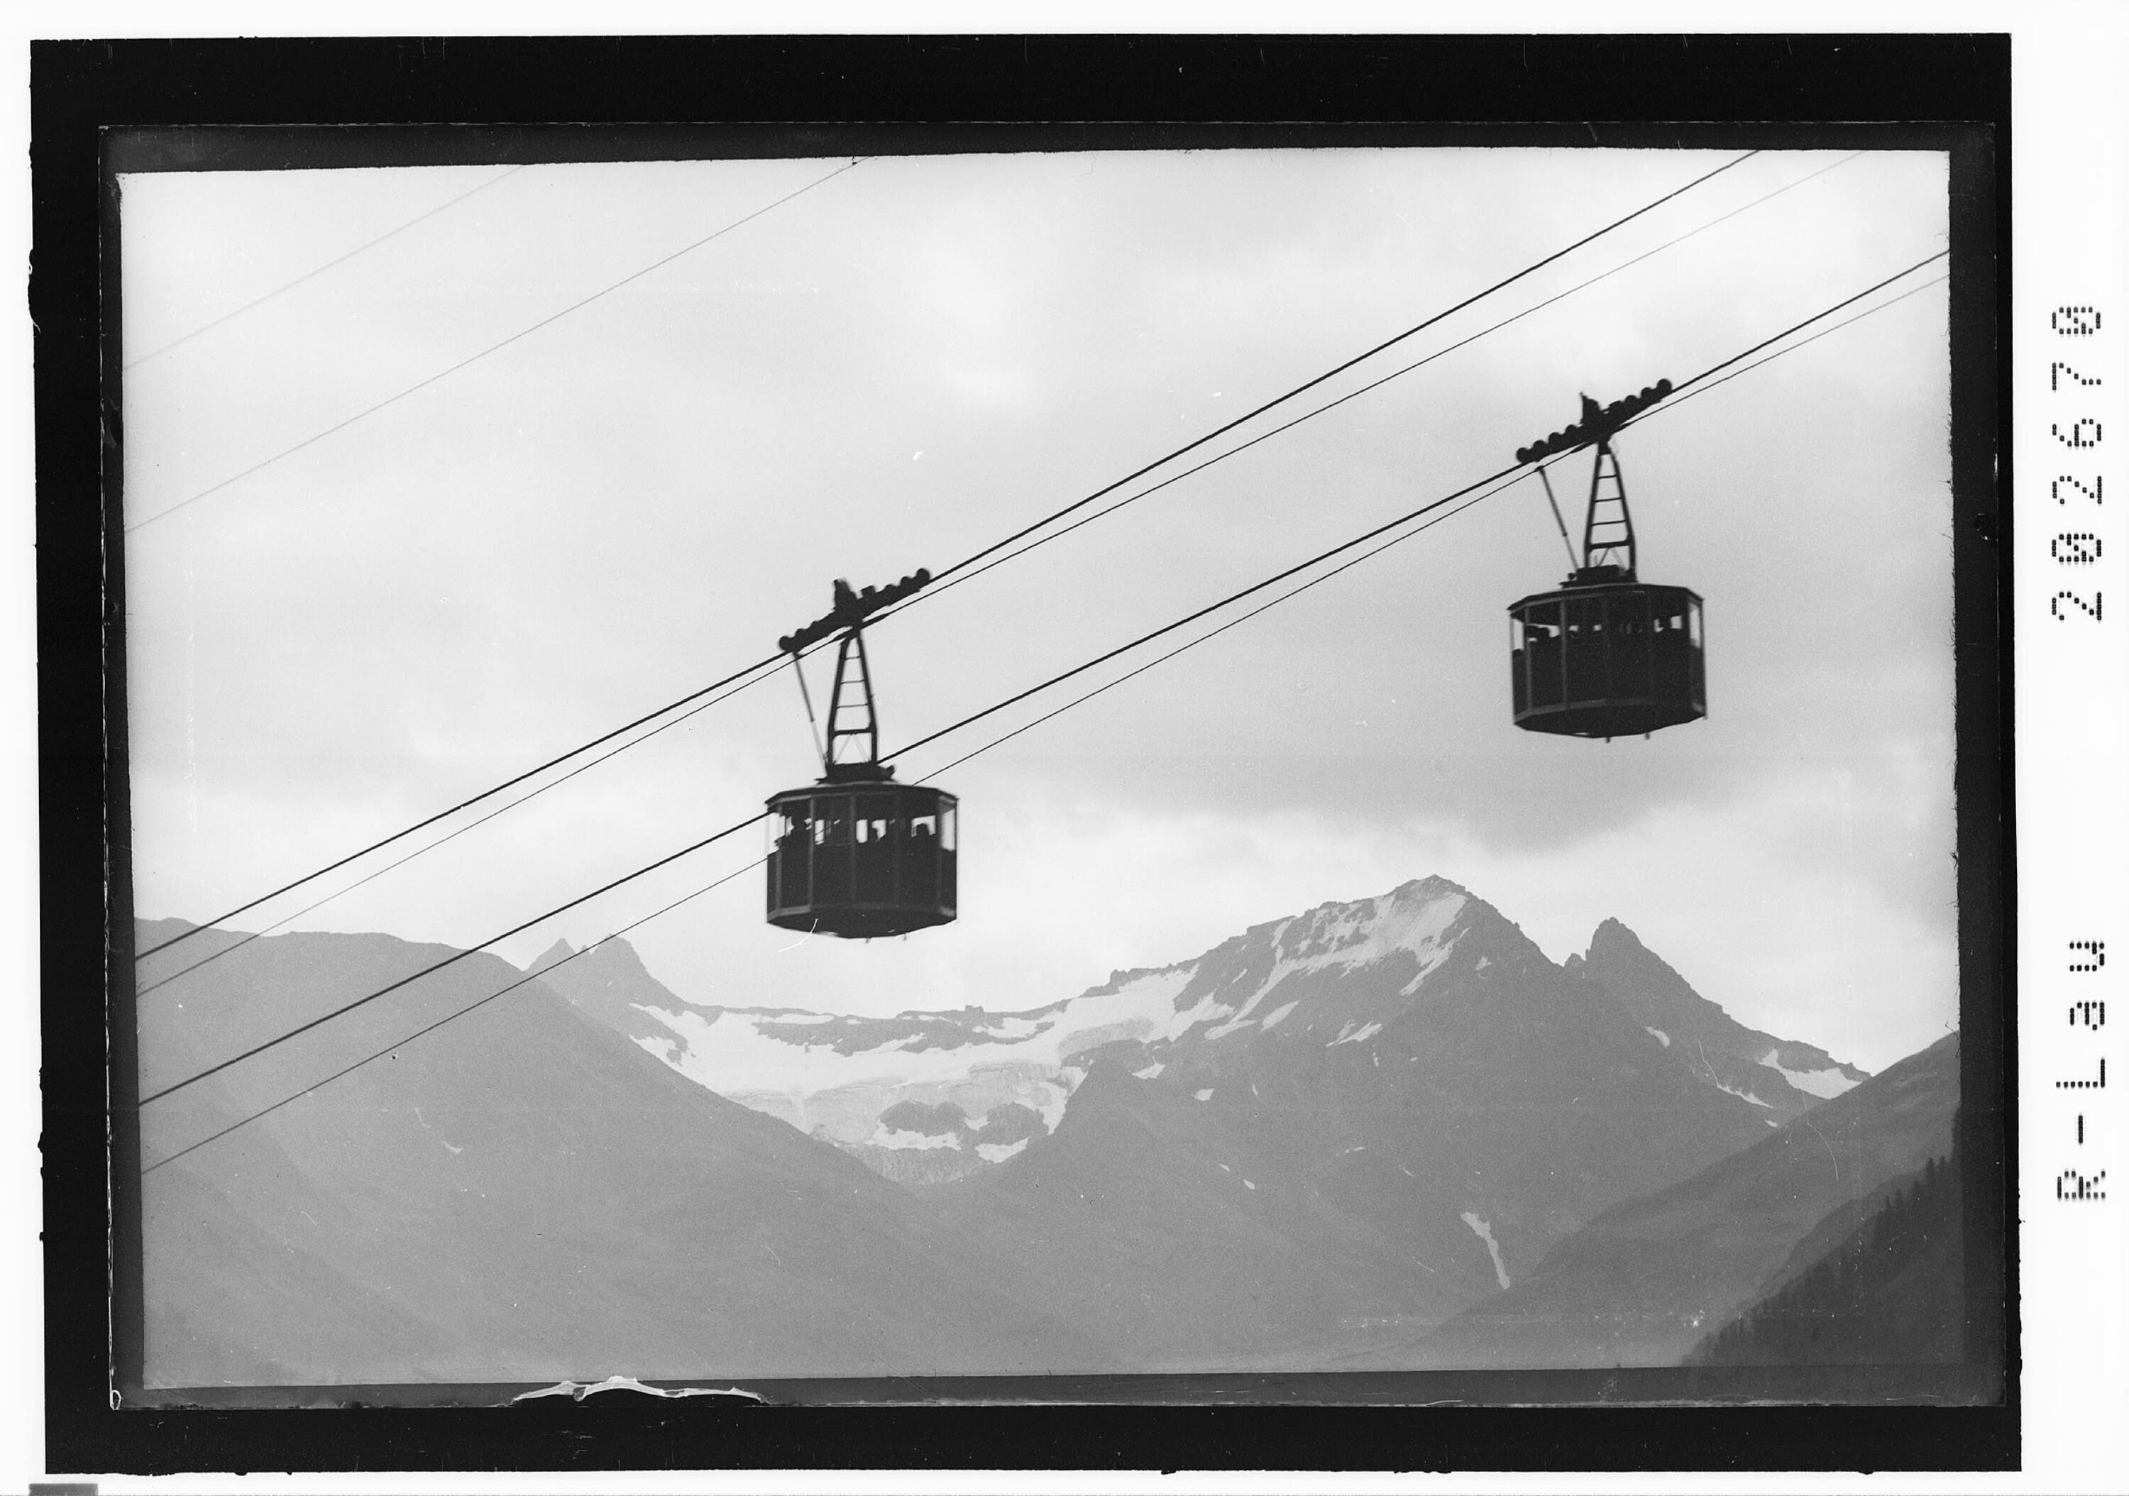
{"type": "MultiPolygon", "coordinates": [[[[1612,451],[1620,426],[1667,394],[1669,379],[1610,406],[1582,396],[1575,426],[1516,453],[1518,462],[1541,462],[1597,447],[1582,564],[1556,592],[1531,594],[1507,609],[1514,719],[1526,732],[1610,741],[1707,715],[1701,598],[1690,587],[1658,587],[1635,575],[1627,483],[1612,451]]],[[[1541,466],[1537,472],[1558,521],[1552,479],[1541,466]]]]}

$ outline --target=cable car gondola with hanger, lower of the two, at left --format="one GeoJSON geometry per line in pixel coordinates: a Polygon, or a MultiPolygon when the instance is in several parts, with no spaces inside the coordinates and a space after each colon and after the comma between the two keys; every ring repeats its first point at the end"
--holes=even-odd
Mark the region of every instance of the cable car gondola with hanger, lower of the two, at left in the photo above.
{"type": "MultiPolygon", "coordinates": [[[[894,783],[894,770],[879,762],[864,660],[864,619],[928,581],[924,570],[864,592],[837,581],[835,611],[777,641],[798,670],[809,645],[841,632],[822,777],[769,798],[773,926],[871,941],[954,919],[958,800],[930,785],[894,783]]],[[[803,672],[798,687],[805,689],[803,672]]]]}

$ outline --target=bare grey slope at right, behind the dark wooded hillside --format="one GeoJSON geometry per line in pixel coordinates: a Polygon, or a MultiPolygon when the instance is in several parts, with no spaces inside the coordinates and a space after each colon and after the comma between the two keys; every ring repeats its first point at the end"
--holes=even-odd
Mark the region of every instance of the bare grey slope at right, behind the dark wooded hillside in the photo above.
{"type": "Polygon", "coordinates": [[[1409,1353],[1456,1366],[1676,1364],[1831,1211],[1944,1153],[1957,1104],[1948,1034],[1754,1147],[1603,1213],[1409,1353]]]}

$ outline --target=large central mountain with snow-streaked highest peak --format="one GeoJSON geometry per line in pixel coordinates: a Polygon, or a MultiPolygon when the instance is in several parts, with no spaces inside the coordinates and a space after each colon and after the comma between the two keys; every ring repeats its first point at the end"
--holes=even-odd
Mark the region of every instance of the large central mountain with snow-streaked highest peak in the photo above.
{"type": "Polygon", "coordinates": [[[1765,1109],[1441,879],[1258,926],[1173,1011],[941,1209],[1058,1313],[1175,1368],[1437,1324],[1767,1136],[1765,1109]]]}

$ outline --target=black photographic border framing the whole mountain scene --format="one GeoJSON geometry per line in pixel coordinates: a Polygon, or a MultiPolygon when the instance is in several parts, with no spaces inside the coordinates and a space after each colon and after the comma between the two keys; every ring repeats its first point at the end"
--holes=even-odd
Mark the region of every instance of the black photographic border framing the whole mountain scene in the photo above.
{"type": "MultiPolygon", "coordinates": [[[[32,45],[47,1462],[81,1473],[2014,1468],[2016,870],[1999,502],[2010,162],[2008,36],[32,45]],[[500,1402],[519,1387],[339,1387],[304,1409],[243,1407],[243,1390],[143,1404],[138,1204],[123,1185],[138,1168],[132,1009],[130,981],[113,981],[132,968],[113,172],[1150,145],[1950,151],[1959,1126],[1969,1311],[1999,1336],[1980,1336],[1993,1341],[1980,1347],[1982,1383],[1948,1396],[1999,1377],[2001,1402],[1646,1407],[1712,1387],[1688,1373],[1616,1370],[758,1385],[777,1407],[628,1394],[375,1407],[415,1392],[500,1402]],[[1414,1407],[1363,1407],[1380,1398],[1414,1407]],[[1439,1398],[1539,1407],[1416,1407],[1439,1398]]],[[[285,1402],[287,1390],[270,1396],[285,1402]]]]}

